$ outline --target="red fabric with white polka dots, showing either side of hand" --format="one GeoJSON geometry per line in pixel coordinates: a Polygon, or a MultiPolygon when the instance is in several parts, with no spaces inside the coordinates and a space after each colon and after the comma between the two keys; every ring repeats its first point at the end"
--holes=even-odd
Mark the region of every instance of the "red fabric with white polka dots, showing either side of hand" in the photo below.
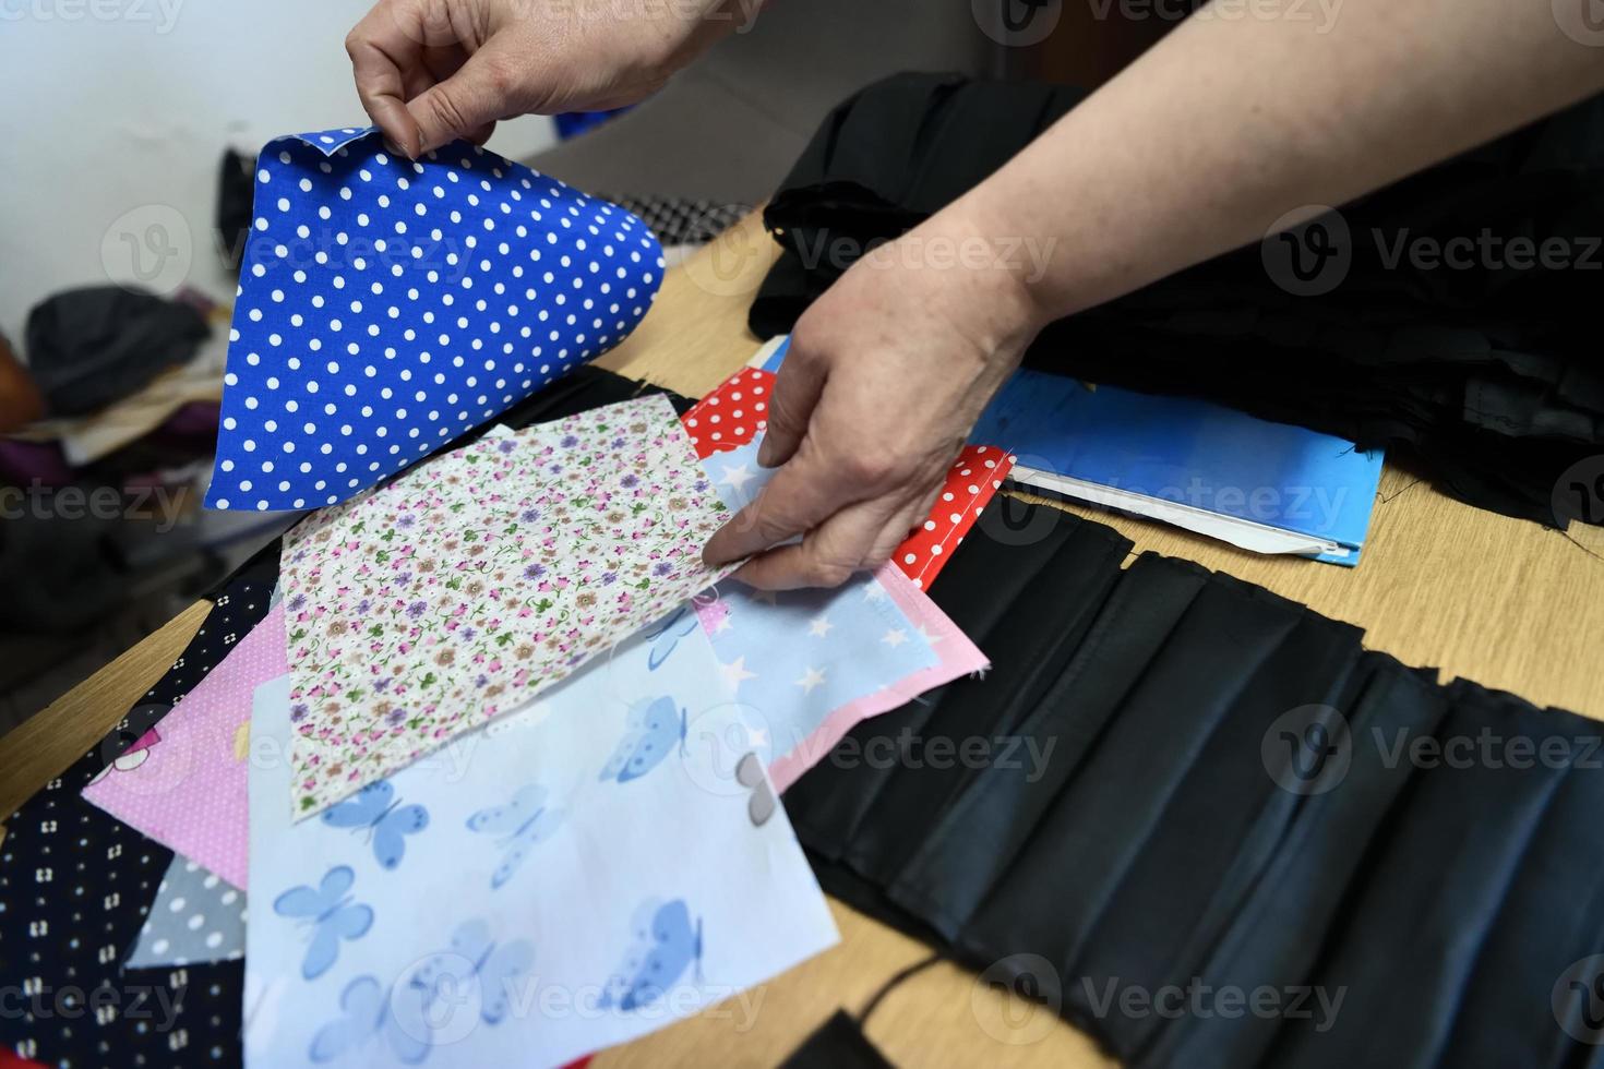
{"type": "MultiPolygon", "coordinates": [[[[680,417],[696,446],[696,455],[706,460],[749,444],[768,426],[768,397],[773,388],[773,372],[743,367],[698,401],[680,417]]],[[[914,587],[929,590],[1012,468],[1014,458],[1004,449],[964,446],[946,473],[946,486],[935,498],[930,514],[892,556],[914,587]]]]}

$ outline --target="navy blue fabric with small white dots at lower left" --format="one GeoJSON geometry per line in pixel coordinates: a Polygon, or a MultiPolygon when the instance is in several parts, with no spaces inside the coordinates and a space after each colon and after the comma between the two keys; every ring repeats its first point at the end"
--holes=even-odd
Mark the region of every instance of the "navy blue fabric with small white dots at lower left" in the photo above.
{"type": "Polygon", "coordinates": [[[237,1064],[242,963],[122,970],[173,854],[80,792],[266,615],[276,579],[277,553],[266,553],[226,583],[172,670],[6,817],[0,1045],[74,1069],[237,1064]]]}

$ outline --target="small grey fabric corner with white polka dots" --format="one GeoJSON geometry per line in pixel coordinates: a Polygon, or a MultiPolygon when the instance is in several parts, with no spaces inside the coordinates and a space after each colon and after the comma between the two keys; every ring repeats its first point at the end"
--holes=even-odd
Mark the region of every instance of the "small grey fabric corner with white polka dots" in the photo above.
{"type": "Polygon", "coordinates": [[[244,955],[244,891],[188,857],[173,856],[124,965],[165,968],[236,962],[244,955]]]}

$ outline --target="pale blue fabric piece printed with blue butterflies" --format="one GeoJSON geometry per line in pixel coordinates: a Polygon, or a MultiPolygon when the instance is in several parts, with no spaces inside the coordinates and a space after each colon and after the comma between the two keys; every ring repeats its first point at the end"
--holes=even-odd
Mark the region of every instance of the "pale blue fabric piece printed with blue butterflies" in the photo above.
{"type": "MultiPolygon", "coordinates": [[[[245,1064],[561,1064],[831,946],[760,766],[683,745],[727,700],[698,628],[635,635],[329,811],[427,816],[399,864],[253,766],[245,1064]]],[[[287,678],[252,729],[292,737],[287,678]]]]}

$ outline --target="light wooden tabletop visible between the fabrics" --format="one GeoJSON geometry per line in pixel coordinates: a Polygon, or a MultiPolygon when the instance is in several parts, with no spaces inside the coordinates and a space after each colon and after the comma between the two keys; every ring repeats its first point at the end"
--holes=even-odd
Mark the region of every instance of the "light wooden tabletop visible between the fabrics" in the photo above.
{"type": "MultiPolygon", "coordinates": [[[[640,329],[602,367],[701,396],[754,351],[746,308],[775,256],[747,218],[682,266],[640,329]]],[[[1173,527],[1070,506],[1156,550],[1261,583],[1367,630],[1367,644],[1405,664],[1437,665],[1541,705],[1604,720],[1604,540],[1484,513],[1391,465],[1365,545],[1344,569],[1267,558],[1173,527]]],[[[0,813],[88,750],[168,668],[207,612],[197,603],[0,740],[0,813]]],[[[840,946],[764,987],[626,1047],[598,1069],[773,1066],[837,1006],[857,1011],[926,949],[831,902],[840,946]]],[[[784,918],[776,917],[776,925],[784,918]]],[[[996,994],[950,965],[898,987],[869,1037],[909,1066],[1108,1064],[1086,1035],[1044,1010],[996,994]]]]}

